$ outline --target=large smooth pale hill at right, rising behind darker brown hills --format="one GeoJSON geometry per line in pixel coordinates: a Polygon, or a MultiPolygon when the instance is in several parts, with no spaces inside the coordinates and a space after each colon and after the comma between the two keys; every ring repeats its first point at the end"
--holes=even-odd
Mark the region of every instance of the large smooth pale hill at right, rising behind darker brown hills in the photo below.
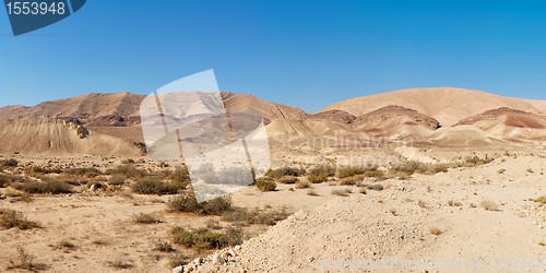
{"type": "Polygon", "coordinates": [[[452,87],[410,88],[356,97],[333,104],[321,112],[337,109],[358,117],[390,105],[417,110],[437,119],[442,127],[455,124],[462,119],[499,107],[546,114],[546,102],[510,98],[452,87]]]}

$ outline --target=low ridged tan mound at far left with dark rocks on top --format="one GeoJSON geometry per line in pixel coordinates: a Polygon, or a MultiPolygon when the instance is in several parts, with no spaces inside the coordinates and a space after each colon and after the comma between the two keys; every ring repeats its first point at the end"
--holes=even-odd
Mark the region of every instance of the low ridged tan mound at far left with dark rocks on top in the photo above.
{"type": "Polygon", "coordinates": [[[135,144],[55,119],[0,123],[0,143],[2,153],[119,156],[142,154],[135,144]]]}

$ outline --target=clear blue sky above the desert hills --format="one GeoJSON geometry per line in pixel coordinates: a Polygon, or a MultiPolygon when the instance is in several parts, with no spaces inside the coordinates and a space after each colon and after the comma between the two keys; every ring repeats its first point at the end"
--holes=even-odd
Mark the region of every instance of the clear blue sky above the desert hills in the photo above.
{"type": "Polygon", "coordinates": [[[0,50],[0,106],[147,94],[206,69],[307,111],[416,86],[546,99],[546,1],[88,0],[17,37],[1,9],[0,50]]]}

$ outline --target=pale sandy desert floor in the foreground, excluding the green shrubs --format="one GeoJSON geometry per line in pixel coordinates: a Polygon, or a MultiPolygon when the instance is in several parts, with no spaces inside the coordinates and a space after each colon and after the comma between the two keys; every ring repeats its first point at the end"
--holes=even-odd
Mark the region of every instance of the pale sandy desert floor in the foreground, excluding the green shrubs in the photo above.
{"type": "MultiPolygon", "coordinates": [[[[296,213],[269,230],[264,227],[249,230],[261,235],[233,250],[236,256],[225,263],[213,263],[211,256],[204,264],[190,264],[187,269],[194,266],[198,272],[544,272],[546,247],[542,245],[546,242],[546,206],[529,200],[546,195],[546,159],[539,152],[510,156],[498,152],[498,158],[487,165],[450,169],[434,176],[414,175],[410,180],[385,180],[381,182],[385,190],[367,190],[367,194],[359,193],[360,188],[356,186],[328,182],[312,186],[318,197],[308,195],[308,189],[290,191],[294,186],[289,185],[280,185],[274,192],[249,187],[233,194],[235,205],[287,206],[296,213]],[[505,171],[500,171],[502,169],[505,171]],[[333,189],[345,188],[352,191],[348,197],[332,194],[333,189]],[[480,205],[483,201],[495,203],[498,210],[485,210],[480,205]],[[431,228],[438,228],[441,234],[432,235],[431,228]]],[[[427,156],[435,157],[435,154],[427,156]]],[[[98,159],[82,161],[96,163],[98,159]]],[[[118,164],[119,159],[106,158],[106,165],[108,161],[118,164]]],[[[62,162],[67,162],[66,158],[55,164],[62,162]]],[[[0,200],[0,207],[21,211],[44,226],[0,230],[0,269],[5,269],[17,247],[24,247],[36,261],[47,264],[50,272],[170,272],[171,254],[154,251],[155,244],[168,240],[169,230],[175,226],[204,227],[212,217],[167,213],[168,199],[76,193],[35,197],[31,203],[14,202],[10,198],[0,200]],[[163,223],[133,223],[132,216],[141,212],[154,213],[163,223]],[[63,240],[75,248],[58,248],[63,240]],[[109,265],[116,261],[132,266],[120,270],[109,265]]]]}

